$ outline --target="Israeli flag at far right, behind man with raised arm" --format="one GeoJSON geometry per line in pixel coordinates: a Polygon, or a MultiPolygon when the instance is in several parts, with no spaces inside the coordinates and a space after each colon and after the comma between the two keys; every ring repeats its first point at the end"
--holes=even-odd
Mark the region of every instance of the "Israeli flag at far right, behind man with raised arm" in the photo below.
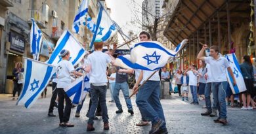
{"type": "Polygon", "coordinates": [[[234,80],[232,76],[228,73],[228,71],[226,71],[226,76],[228,77],[228,83],[232,92],[234,94],[237,94],[246,91],[244,78],[240,69],[240,65],[238,63],[238,59],[236,59],[236,55],[234,53],[227,54],[225,55],[225,58],[228,59],[229,65],[234,73],[234,77],[236,78],[236,86],[233,86],[234,80]]]}

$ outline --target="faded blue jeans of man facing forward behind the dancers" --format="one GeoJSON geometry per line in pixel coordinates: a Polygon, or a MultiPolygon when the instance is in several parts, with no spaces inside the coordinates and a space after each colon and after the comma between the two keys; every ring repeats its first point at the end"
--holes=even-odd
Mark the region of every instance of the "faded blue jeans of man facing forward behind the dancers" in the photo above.
{"type": "Polygon", "coordinates": [[[113,95],[114,95],[114,100],[115,100],[117,109],[122,109],[122,105],[119,100],[119,91],[120,90],[122,90],[123,97],[125,97],[125,103],[127,105],[127,108],[133,109],[133,106],[131,105],[131,99],[129,99],[129,87],[128,87],[127,82],[115,84],[113,95]]]}

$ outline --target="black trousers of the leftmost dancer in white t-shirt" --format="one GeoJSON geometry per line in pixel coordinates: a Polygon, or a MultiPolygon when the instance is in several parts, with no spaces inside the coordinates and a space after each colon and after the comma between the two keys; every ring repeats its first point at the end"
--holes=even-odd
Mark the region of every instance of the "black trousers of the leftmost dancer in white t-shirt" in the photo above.
{"type": "Polygon", "coordinates": [[[60,118],[60,123],[68,122],[70,120],[70,112],[72,103],[63,88],[57,88],[58,90],[58,116],[60,118]],[[64,109],[64,99],[66,100],[66,107],[64,109]]]}

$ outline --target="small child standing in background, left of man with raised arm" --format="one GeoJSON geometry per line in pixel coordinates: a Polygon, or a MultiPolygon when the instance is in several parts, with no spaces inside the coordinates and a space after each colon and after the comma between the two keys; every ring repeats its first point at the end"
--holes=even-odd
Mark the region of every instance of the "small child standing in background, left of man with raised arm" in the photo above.
{"type": "Polygon", "coordinates": [[[181,93],[182,93],[182,101],[186,99],[188,101],[188,84],[189,78],[186,75],[186,72],[181,76],[181,93]]]}

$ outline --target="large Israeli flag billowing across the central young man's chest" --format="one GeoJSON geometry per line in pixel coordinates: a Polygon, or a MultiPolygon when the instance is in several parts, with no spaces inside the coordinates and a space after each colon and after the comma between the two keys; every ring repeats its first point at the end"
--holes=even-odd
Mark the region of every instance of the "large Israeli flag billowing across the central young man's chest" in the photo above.
{"type": "Polygon", "coordinates": [[[131,55],[119,56],[116,64],[126,69],[158,70],[168,59],[175,57],[188,40],[184,39],[175,50],[169,50],[160,42],[139,42],[131,48],[131,55]]]}

